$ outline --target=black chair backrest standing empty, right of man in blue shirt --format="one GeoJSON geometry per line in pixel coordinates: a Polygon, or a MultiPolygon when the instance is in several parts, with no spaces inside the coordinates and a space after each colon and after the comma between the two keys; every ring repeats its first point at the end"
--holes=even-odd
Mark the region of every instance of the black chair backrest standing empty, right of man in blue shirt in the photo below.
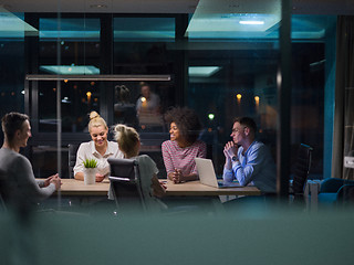
{"type": "Polygon", "coordinates": [[[292,184],[294,194],[303,194],[304,192],[304,187],[308,181],[311,167],[312,151],[313,148],[308,145],[301,144],[299,147],[294,179],[292,184]]]}

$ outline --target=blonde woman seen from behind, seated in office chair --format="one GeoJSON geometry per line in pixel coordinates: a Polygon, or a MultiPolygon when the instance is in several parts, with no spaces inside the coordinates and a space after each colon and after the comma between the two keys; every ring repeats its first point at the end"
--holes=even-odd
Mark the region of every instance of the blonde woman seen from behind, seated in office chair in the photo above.
{"type": "Polygon", "coordinates": [[[138,156],[140,139],[137,131],[133,127],[118,124],[115,126],[114,132],[124,158],[136,159],[138,162],[143,193],[148,210],[166,208],[155,198],[163,197],[166,190],[166,187],[157,179],[158,169],[156,163],[146,155],[138,156]]]}

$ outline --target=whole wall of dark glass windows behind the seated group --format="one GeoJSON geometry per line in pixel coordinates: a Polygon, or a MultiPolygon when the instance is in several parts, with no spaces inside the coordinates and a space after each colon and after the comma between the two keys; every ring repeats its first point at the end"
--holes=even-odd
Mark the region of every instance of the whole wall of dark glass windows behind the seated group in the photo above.
{"type": "MultiPolygon", "coordinates": [[[[208,1],[205,3],[194,14],[22,14],[38,29],[37,34],[10,38],[24,46],[19,60],[25,62],[25,74],[85,77],[60,82],[27,80],[23,88],[17,88],[27,93],[19,95],[13,110],[24,109],[31,116],[33,136],[25,153],[37,177],[56,172],[58,86],[63,178],[69,177],[67,145],[90,140],[86,126],[91,110],[98,112],[110,126],[127,123],[136,127],[142,135],[143,152],[157,162],[162,178],[166,176],[160,144],[169,138],[169,125],[163,117],[171,106],[188,106],[198,113],[204,125],[200,138],[211,147],[209,155],[219,176],[225,161],[222,148],[230,140],[236,116],[250,116],[257,121],[258,138],[271,148],[277,160],[280,1],[273,1],[273,10],[252,7],[248,12],[211,6],[214,11],[209,12],[208,1]],[[90,75],[169,78],[97,81],[90,80],[90,75]],[[136,113],[128,116],[128,121],[122,119],[119,88],[124,85],[129,89],[134,113],[140,82],[147,82],[160,98],[160,117],[155,125],[139,120],[136,113]]],[[[335,25],[335,18],[292,15],[291,21],[291,160],[300,142],[313,146],[311,173],[323,178],[324,98],[326,89],[333,89],[329,88],[326,68],[334,63],[327,59],[334,54],[327,40],[334,38],[335,32],[329,29],[335,25]]],[[[11,86],[14,87],[13,83],[11,86]]],[[[6,95],[2,97],[8,100],[10,94],[6,95]]]]}

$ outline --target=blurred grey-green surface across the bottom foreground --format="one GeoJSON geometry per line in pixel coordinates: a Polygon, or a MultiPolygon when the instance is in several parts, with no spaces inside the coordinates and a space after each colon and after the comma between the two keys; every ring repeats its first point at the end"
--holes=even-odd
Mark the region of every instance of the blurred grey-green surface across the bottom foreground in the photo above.
{"type": "Polygon", "coordinates": [[[354,211],[0,214],[1,264],[353,264],[354,211]]]}

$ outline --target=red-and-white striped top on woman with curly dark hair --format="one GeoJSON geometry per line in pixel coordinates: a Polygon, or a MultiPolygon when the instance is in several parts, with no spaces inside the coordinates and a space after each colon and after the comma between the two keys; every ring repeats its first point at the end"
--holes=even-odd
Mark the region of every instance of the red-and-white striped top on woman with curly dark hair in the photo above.
{"type": "Polygon", "coordinates": [[[176,141],[167,140],[162,145],[167,174],[180,169],[183,174],[198,173],[195,158],[207,157],[207,145],[197,140],[191,146],[180,148],[176,141]]]}

